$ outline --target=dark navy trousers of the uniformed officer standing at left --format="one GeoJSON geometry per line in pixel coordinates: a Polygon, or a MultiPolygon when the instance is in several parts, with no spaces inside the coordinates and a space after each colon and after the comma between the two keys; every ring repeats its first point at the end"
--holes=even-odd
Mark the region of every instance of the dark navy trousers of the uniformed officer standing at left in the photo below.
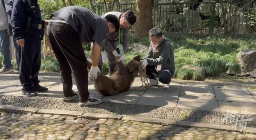
{"type": "Polygon", "coordinates": [[[18,47],[20,83],[22,90],[33,91],[34,87],[39,84],[41,39],[38,35],[24,34],[24,40],[24,47],[18,47]]]}

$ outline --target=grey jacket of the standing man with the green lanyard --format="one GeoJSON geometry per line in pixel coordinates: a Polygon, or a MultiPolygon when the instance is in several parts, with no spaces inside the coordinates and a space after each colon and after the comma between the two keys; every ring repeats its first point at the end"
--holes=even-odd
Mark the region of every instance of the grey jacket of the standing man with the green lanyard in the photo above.
{"type": "MultiPolygon", "coordinates": [[[[108,12],[105,13],[102,18],[106,17],[106,15],[115,15],[119,20],[121,18],[122,13],[120,12],[108,12]]],[[[120,28],[122,29],[122,47],[124,48],[124,53],[126,53],[128,49],[128,42],[129,42],[129,31],[130,28],[120,28]]],[[[103,40],[102,46],[105,48],[106,51],[112,52],[113,50],[116,50],[117,44],[119,44],[119,31],[115,31],[114,33],[111,33],[103,40]]]]}

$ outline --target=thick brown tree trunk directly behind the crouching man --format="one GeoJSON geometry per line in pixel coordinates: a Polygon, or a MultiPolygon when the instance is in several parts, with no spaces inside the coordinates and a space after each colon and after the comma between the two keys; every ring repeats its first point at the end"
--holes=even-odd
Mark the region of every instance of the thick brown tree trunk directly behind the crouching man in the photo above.
{"type": "Polygon", "coordinates": [[[147,37],[148,31],[153,28],[152,0],[136,0],[135,34],[137,37],[147,37]]]}

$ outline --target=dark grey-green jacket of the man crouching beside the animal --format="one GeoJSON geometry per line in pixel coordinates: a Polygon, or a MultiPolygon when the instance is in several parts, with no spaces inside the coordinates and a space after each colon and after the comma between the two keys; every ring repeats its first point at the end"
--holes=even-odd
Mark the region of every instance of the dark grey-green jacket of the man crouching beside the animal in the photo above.
{"type": "Polygon", "coordinates": [[[163,37],[162,42],[154,52],[153,47],[149,46],[148,54],[144,57],[148,61],[148,65],[158,66],[161,65],[161,70],[170,70],[172,74],[175,71],[173,46],[169,39],[163,37]]]}

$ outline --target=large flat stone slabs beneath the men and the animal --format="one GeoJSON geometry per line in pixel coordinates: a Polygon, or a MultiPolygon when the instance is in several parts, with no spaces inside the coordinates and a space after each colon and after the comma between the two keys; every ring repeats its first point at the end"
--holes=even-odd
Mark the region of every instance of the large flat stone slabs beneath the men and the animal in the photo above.
{"type": "MultiPolygon", "coordinates": [[[[39,76],[40,85],[48,87],[47,92],[39,93],[42,98],[63,98],[63,85],[59,76],[39,76]]],[[[246,87],[185,85],[171,83],[171,89],[150,87],[138,90],[140,79],[136,78],[129,91],[115,95],[102,96],[89,85],[89,92],[108,103],[150,105],[156,107],[178,107],[186,109],[256,114],[256,90],[246,87]]],[[[73,90],[77,92],[73,82],[73,90]]],[[[0,95],[24,96],[17,74],[0,75],[0,95]]],[[[77,99],[78,100],[78,99],[77,99]]]]}

